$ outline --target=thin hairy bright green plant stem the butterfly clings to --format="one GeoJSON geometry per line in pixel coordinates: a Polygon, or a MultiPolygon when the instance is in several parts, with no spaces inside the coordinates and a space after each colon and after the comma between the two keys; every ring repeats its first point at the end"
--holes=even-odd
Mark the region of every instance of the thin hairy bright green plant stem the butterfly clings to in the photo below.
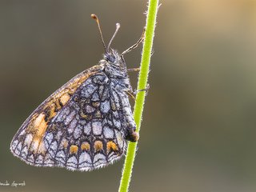
{"type": "MultiPolygon", "coordinates": [[[[154,28],[158,11],[158,0],[149,0],[149,6],[146,17],[146,34],[142,50],[142,62],[138,76],[138,90],[146,89],[147,78],[150,71],[150,57],[153,46],[154,28]]],[[[145,102],[145,91],[139,91],[136,95],[134,106],[134,121],[136,122],[136,131],[139,132],[142,122],[142,112],[145,102]]],[[[138,142],[129,142],[126,153],[126,160],[122,170],[122,178],[119,186],[119,192],[128,191],[130,178],[134,166],[138,142]]]]}

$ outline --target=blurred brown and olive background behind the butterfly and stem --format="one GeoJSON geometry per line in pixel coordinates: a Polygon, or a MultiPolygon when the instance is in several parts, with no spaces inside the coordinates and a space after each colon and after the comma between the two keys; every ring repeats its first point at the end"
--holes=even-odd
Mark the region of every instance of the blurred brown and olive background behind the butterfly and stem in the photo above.
{"type": "MultiPolygon", "coordinates": [[[[256,1],[161,1],[150,91],[130,191],[256,190],[256,1]]],[[[10,153],[22,122],[54,90],[138,40],[146,1],[0,2],[0,191],[118,191],[123,160],[92,172],[28,166],[10,153]]],[[[142,46],[126,55],[139,66],[142,46]]],[[[136,88],[137,74],[130,74],[136,88]]],[[[133,101],[131,101],[134,105],[133,101]]]]}

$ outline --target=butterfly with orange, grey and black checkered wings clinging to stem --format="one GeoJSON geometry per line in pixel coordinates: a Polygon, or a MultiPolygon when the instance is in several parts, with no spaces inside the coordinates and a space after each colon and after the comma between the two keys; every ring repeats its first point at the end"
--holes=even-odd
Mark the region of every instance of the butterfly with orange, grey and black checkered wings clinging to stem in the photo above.
{"type": "Polygon", "coordinates": [[[104,58],[46,98],[19,128],[10,150],[27,164],[95,170],[121,158],[127,141],[138,141],[129,103],[134,92],[123,55],[143,41],[144,32],[118,54],[110,45],[120,25],[106,47],[98,17],[91,17],[98,24],[104,58]]]}

